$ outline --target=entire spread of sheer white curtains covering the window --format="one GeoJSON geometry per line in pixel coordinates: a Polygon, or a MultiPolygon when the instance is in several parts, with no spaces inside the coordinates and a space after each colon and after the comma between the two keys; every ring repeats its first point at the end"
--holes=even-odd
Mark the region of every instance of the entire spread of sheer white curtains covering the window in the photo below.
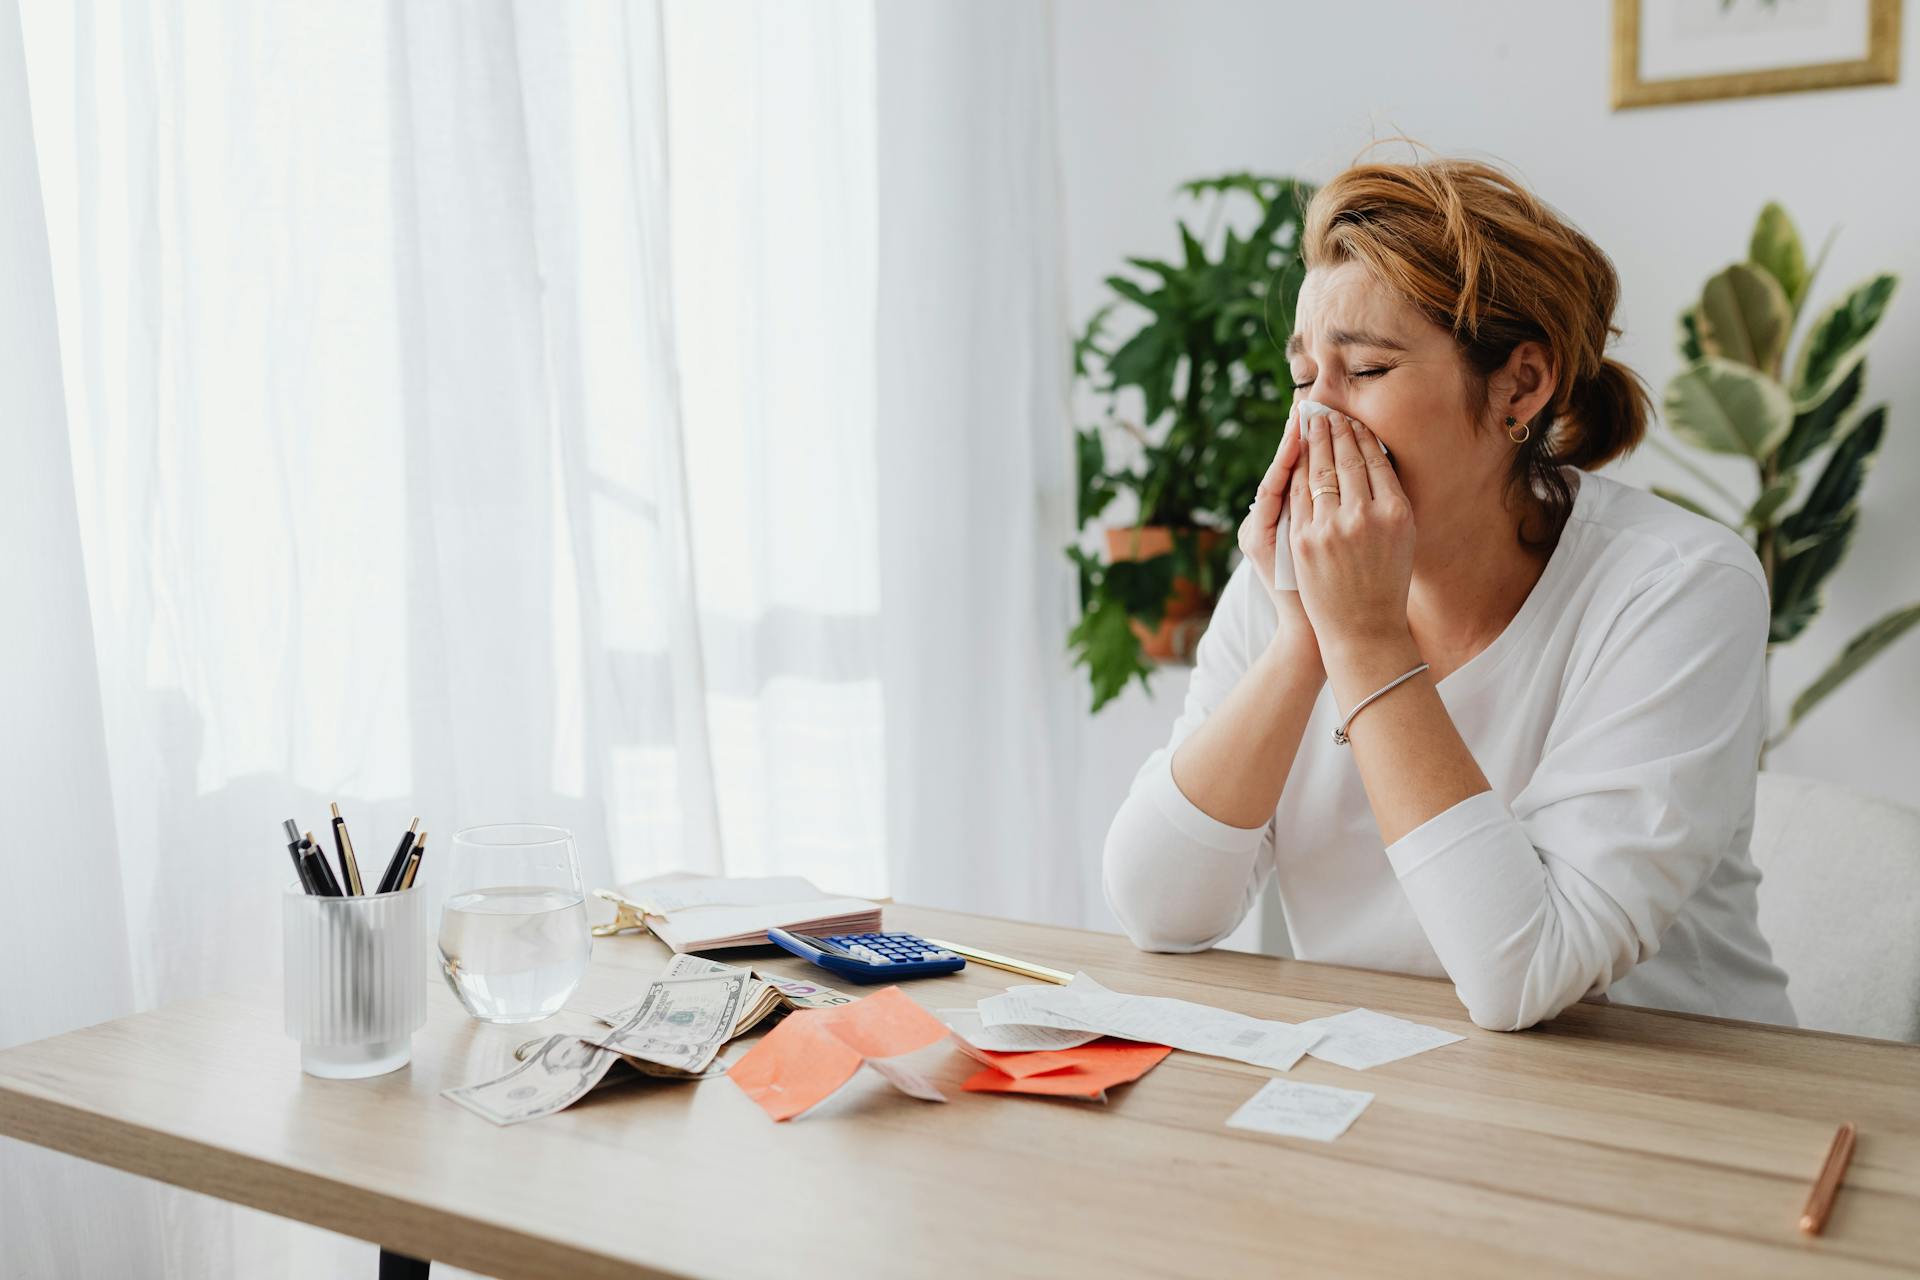
{"type": "MultiPolygon", "coordinates": [[[[0,741],[63,852],[0,1044],[273,990],[328,800],[1077,919],[1044,8],[4,2],[0,741]]],[[[0,1274],[371,1274],[0,1171],[0,1274]]]]}

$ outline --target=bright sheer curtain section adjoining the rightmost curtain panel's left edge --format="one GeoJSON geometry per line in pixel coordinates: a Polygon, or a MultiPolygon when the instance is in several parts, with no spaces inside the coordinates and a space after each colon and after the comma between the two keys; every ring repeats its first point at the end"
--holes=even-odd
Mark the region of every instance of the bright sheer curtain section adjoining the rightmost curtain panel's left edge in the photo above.
{"type": "Polygon", "coordinates": [[[676,336],[728,869],[885,892],[872,4],[666,6],[676,336]]]}

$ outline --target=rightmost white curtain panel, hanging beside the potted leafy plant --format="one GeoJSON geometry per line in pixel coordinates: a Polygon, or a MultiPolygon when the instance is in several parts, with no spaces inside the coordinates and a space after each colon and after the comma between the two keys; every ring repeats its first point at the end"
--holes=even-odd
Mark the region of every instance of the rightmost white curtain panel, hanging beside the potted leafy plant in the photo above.
{"type": "Polygon", "coordinates": [[[1085,683],[1052,12],[879,6],[879,459],[895,892],[1081,925],[1085,683]]]}

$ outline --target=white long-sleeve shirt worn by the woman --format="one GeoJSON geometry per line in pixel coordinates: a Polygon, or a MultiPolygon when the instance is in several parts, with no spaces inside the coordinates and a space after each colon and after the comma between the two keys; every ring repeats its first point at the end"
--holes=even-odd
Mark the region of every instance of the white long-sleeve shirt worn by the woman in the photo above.
{"type": "MultiPolygon", "coordinates": [[[[1135,944],[1208,948],[1277,879],[1294,956],[1448,977],[1480,1027],[1530,1027],[1601,992],[1795,1021],[1747,854],[1766,729],[1759,560],[1713,520],[1567,474],[1578,491],[1540,581],[1438,683],[1492,791],[1392,844],[1352,748],[1332,741],[1331,689],[1263,827],[1217,821],[1173,781],[1175,748],[1277,626],[1240,564],[1171,741],[1108,831],[1106,896],[1135,944]]],[[[1352,733],[1367,733],[1367,712],[1352,733]]]]}

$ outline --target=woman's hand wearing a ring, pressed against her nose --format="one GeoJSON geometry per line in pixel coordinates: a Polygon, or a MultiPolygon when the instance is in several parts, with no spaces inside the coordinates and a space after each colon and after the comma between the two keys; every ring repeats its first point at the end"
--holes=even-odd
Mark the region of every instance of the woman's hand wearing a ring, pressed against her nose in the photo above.
{"type": "Polygon", "coordinates": [[[1288,493],[1300,604],[1323,651],[1405,637],[1413,505],[1363,424],[1329,413],[1308,426],[1306,464],[1294,466],[1288,493]]]}

